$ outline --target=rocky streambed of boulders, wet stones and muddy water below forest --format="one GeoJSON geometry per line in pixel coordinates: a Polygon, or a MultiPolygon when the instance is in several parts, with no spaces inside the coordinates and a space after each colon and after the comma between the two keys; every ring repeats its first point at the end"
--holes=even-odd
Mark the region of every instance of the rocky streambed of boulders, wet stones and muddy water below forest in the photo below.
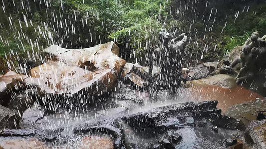
{"type": "Polygon", "coordinates": [[[266,100],[214,75],[218,63],[150,99],[148,68],[119,58],[113,42],[44,51],[41,65],[0,76],[0,149],[266,149],[266,100]]]}

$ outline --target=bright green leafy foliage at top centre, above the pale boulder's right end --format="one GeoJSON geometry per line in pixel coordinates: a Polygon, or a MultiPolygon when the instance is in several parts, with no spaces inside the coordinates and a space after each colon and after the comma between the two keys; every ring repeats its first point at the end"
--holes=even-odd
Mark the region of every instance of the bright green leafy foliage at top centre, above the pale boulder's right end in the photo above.
{"type": "MultiPolygon", "coordinates": [[[[171,17],[165,7],[169,7],[167,0],[134,0],[127,5],[117,31],[109,38],[122,44],[124,38],[130,39],[130,45],[137,49],[137,55],[145,53],[146,45],[154,45],[159,31],[164,27],[165,17],[171,17]],[[130,34],[129,34],[130,32],[130,34]]],[[[172,21],[169,19],[169,22],[172,21]]],[[[169,24],[169,23],[165,23],[169,24]]]]}

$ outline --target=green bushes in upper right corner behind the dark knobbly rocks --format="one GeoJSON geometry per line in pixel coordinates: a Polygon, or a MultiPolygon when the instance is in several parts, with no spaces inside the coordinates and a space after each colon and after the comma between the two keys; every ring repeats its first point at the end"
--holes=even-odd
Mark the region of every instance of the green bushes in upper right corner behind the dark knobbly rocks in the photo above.
{"type": "Polygon", "coordinates": [[[222,36],[216,40],[223,54],[230,52],[234,47],[244,45],[255,31],[258,31],[261,37],[266,34],[265,10],[266,5],[259,5],[253,7],[248,13],[240,14],[236,20],[235,16],[230,17],[222,36]]]}

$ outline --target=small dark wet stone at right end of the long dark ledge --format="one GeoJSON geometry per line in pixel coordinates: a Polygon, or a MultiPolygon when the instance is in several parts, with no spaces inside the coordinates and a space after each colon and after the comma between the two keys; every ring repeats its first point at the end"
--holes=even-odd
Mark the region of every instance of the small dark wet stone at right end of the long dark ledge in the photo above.
{"type": "Polygon", "coordinates": [[[238,119],[213,113],[210,116],[212,118],[212,123],[218,127],[232,130],[245,130],[245,124],[238,119]]]}

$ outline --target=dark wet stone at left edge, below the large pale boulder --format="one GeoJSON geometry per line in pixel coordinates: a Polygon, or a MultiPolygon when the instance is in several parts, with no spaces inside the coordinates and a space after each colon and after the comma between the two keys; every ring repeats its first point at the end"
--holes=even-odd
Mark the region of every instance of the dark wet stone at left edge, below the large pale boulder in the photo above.
{"type": "Polygon", "coordinates": [[[4,128],[16,128],[19,117],[15,111],[0,105],[0,130],[4,128]]]}

